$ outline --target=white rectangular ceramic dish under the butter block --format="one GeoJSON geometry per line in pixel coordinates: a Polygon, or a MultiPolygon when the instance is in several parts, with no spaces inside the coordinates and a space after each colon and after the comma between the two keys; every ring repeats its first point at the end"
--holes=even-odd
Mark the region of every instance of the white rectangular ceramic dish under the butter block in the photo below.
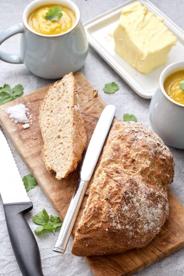
{"type": "Polygon", "coordinates": [[[115,50],[114,39],[111,36],[118,24],[123,7],[135,1],[127,1],[114,9],[111,9],[92,20],[84,23],[90,46],[129,84],[129,86],[141,97],[151,99],[158,87],[159,76],[162,70],[169,64],[184,59],[184,31],[172,20],[162,13],[148,0],[140,0],[148,10],[157,16],[164,18],[165,25],[177,37],[177,44],[173,46],[167,57],[167,62],[151,73],[144,74],[133,68],[115,50]]]}

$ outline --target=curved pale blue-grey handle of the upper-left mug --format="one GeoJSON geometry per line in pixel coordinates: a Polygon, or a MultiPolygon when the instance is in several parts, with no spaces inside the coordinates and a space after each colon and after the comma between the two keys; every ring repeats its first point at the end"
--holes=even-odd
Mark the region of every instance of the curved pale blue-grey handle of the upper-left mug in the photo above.
{"type": "MultiPolygon", "coordinates": [[[[6,39],[10,38],[13,35],[16,35],[18,33],[24,33],[24,27],[22,23],[13,25],[6,31],[2,31],[0,33],[0,45],[3,43],[6,39]]],[[[8,62],[8,63],[22,63],[20,60],[20,54],[14,55],[14,54],[7,54],[5,52],[0,51],[0,59],[8,62]]]]}

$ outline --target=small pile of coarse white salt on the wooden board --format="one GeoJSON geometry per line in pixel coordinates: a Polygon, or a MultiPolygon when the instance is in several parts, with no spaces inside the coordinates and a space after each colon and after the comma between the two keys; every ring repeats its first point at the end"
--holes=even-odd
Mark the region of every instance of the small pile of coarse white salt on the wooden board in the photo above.
{"type": "Polygon", "coordinates": [[[10,119],[12,119],[12,121],[14,121],[15,124],[23,123],[22,127],[24,129],[30,127],[29,120],[27,117],[30,115],[30,111],[22,103],[8,107],[6,109],[6,113],[9,114],[10,119]]]}

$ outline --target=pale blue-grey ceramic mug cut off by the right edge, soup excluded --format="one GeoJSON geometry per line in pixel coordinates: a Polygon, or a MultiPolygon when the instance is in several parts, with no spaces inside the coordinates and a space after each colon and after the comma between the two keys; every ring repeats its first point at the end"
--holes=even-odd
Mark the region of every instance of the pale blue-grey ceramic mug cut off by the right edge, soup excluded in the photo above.
{"type": "Polygon", "coordinates": [[[154,132],[167,144],[184,149],[184,105],[171,99],[164,90],[164,81],[172,73],[184,69],[184,61],[168,65],[159,78],[149,108],[150,124],[154,132]]]}

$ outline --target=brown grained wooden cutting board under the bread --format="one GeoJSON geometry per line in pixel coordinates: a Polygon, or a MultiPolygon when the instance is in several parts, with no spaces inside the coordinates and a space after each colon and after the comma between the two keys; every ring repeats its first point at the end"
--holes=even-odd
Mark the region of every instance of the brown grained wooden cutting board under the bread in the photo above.
{"type": "MultiPolygon", "coordinates": [[[[76,73],[74,76],[79,86],[79,105],[86,124],[89,143],[105,103],[99,96],[96,96],[96,91],[82,73],[76,73]]],[[[43,140],[38,116],[40,103],[49,86],[2,105],[0,107],[0,124],[58,216],[63,220],[78,181],[78,172],[75,171],[66,179],[59,181],[54,177],[54,172],[48,173],[45,169],[41,153],[43,140]],[[22,124],[14,124],[5,112],[5,108],[18,103],[26,104],[31,109],[30,113],[33,114],[32,124],[28,129],[23,129],[22,124]]],[[[76,219],[73,234],[78,226],[86,200],[87,195],[76,219]]],[[[129,250],[122,254],[85,257],[93,274],[98,276],[132,275],[182,248],[184,245],[184,208],[170,190],[169,204],[169,218],[161,232],[146,247],[129,250]]]]}

